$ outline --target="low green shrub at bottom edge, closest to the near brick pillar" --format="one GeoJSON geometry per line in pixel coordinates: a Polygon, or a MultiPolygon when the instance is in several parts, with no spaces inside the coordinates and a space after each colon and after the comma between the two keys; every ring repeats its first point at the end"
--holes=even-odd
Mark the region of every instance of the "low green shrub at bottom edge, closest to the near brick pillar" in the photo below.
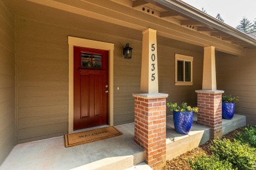
{"type": "Polygon", "coordinates": [[[219,158],[215,156],[207,157],[207,156],[199,156],[195,158],[195,161],[188,160],[192,169],[195,170],[231,170],[232,163],[228,163],[228,161],[221,161],[219,158]]]}

